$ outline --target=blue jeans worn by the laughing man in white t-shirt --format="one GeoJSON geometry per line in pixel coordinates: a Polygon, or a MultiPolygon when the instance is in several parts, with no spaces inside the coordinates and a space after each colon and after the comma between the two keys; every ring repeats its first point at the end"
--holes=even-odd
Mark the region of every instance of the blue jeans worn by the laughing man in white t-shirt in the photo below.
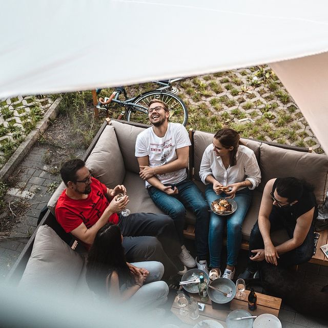
{"type": "Polygon", "coordinates": [[[186,208],[196,215],[196,250],[198,260],[205,260],[208,255],[209,208],[202,193],[191,180],[183,180],[175,185],[178,194],[171,196],[155,187],[148,192],[154,203],[174,221],[180,244],[183,245],[183,228],[185,226],[186,208]]]}

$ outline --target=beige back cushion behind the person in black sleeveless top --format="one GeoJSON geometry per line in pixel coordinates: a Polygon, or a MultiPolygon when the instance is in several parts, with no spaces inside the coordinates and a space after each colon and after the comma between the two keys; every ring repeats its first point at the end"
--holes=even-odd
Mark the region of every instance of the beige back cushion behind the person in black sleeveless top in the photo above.
{"type": "Polygon", "coordinates": [[[323,203],[327,186],[328,158],[326,155],[304,153],[262,144],[260,147],[262,180],[259,190],[272,178],[294,176],[311,183],[318,204],[323,203]]]}

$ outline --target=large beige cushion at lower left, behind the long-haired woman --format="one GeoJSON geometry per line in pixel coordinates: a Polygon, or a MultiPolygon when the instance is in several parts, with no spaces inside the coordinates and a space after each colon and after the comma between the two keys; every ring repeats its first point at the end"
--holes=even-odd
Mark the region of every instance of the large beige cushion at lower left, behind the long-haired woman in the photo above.
{"type": "Polygon", "coordinates": [[[48,226],[38,228],[19,288],[74,292],[85,259],[48,226]]]}

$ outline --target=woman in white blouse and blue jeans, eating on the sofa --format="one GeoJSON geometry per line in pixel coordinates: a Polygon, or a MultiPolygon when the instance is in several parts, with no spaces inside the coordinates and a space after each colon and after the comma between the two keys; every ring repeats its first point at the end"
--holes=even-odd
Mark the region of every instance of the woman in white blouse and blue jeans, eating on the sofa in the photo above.
{"type": "Polygon", "coordinates": [[[203,153],[199,176],[208,185],[205,196],[209,204],[222,197],[234,198],[237,210],[227,216],[214,212],[210,216],[210,267],[221,276],[221,250],[227,223],[227,267],[223,278],[233,279],[241,244],[241,227],[252,199],[252,190],[261,182],[261,172],[253,150],[244,146],[232,129],[219,130],[203,153]],[[226,187],[226,188],[224,188],[226,187]]]}

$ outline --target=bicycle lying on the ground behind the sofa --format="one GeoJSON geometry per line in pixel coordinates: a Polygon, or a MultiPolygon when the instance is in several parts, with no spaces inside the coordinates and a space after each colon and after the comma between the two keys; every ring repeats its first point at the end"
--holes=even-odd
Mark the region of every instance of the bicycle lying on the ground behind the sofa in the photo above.
{"type": "MultiPolygon", "coordinates": [[[[123,87],[116,88],[110,97],[99,98],[98,109],[105,109],[108,115],[108,110],[111,103],[118,104],[124,107],[124,110],[118,116],[118,119],[126,116],[127,121],[138,122],[149,125],[148,118],[148,103],[152,99],[162,100],[167,104],[170,110],[170,121],[175,123],[181,123],[183,126],[187,125],[188,110],[183,101],[174,93],[177,89],[172,86],[172,83],[182,80],[182,78],[174,78],[169,80],[153,81],[159,88],[147,91],[139,94],[136,97],[129,98],[127,92],[123,87]],[[123,95],[124,100],[120,100],[119,97],[123,95]]],[[[99,94],[100,89],[97,90],[99,94]]]]}

